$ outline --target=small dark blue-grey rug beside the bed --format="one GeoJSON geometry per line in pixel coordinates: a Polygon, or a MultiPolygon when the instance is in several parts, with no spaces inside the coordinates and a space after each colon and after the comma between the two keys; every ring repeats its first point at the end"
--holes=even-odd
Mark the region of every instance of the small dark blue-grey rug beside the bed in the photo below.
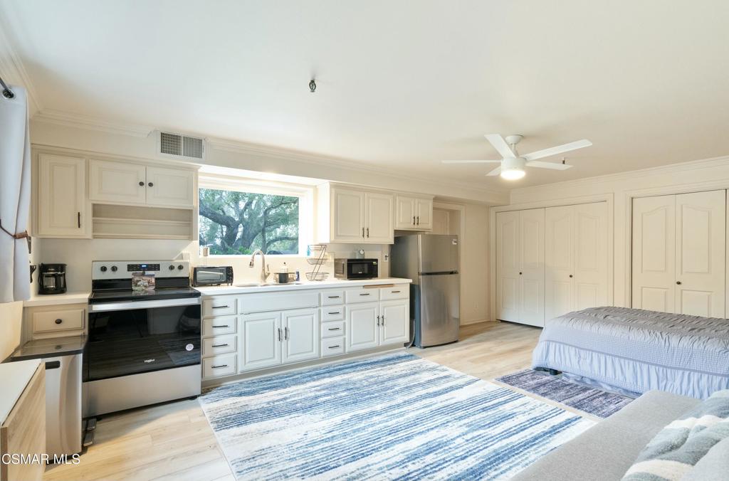
{"type": "Polygon", "coordinates": [[[514,372],[496,380],[599,418],[607,418],[633,401],[631,397],[572,383],[559,376],[533,369],[514,372]]]}

